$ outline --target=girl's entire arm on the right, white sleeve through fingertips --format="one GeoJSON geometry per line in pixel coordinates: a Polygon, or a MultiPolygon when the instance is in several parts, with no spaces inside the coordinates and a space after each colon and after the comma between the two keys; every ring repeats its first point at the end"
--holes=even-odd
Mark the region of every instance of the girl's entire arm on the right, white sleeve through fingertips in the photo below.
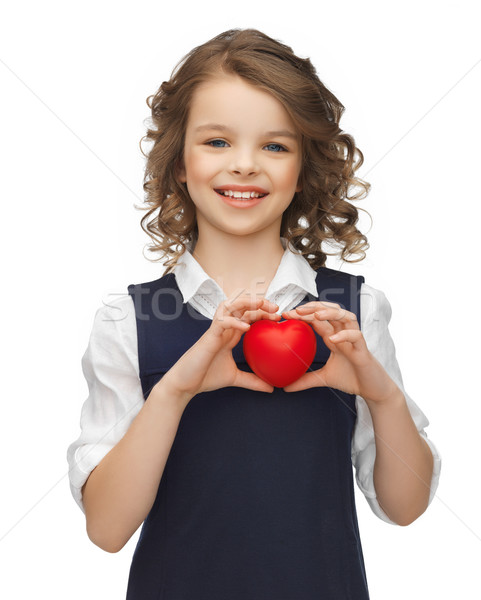
{"type": "Polygon", "coordinates": [[[285,389],[328,385],[357,395],[353,436],[357,483],[380,518],[407,525],[424,512],[433,496],[440,458],[424,439],[428,420],[403,391],[387,328],[389,302],[382,292],[366,287],[373,302],[363,318],[365,340],[356,316],[334,303],[313,302],[296,309],[296,315],[290,311],[292,317],[313,325],[331,356],[323,369],[307,373],[285,389]],[[339,337],[332,339],[334,333],[339,337]]]}

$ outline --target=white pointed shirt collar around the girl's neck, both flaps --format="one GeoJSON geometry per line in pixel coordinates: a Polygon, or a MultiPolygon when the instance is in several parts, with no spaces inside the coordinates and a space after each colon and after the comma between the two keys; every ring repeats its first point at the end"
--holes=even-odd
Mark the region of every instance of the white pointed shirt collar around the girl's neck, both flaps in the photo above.
{"type": "MultiPolygon", "coordinates": [[[[281,237],[281,243],[284,248],[284,254],[276,274],[269,284],[265,297],[271,298],[288,285],[295,285],[317,298],[316,271],[312,269],[309,262],[301,253],[297,252],[291,244],[287,243],[286,238],[281,237]]],[[[191,251],[192,244],[190,243],[173,270],[184,303],[191,300],[197,293],[206,293],[209,291],[217,297],[219,302],[225,300],[222,288],[214,279],[207,275],[191,251]]]]}

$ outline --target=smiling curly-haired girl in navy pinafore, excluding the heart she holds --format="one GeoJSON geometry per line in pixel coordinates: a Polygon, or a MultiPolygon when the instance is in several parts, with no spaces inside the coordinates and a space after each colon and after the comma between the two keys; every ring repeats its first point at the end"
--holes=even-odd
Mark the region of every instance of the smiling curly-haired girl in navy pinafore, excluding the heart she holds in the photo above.
{"type": "Polygon", "coordinates": [[[309,59],[254,29],[194,48],[148,104],[141,223],[167,268],[97,311],[82,359],[68,459],[89,538],[117,552],[143,523],[129,600],[365,600],[352,465],[375,514],[407,525],[440,458],[385,295],[324,266],[322,242],[345,260],[368,247],[344,107],[309,59]],[[245,362],[259,319],[316,335],[283,389],[245,362]]]}

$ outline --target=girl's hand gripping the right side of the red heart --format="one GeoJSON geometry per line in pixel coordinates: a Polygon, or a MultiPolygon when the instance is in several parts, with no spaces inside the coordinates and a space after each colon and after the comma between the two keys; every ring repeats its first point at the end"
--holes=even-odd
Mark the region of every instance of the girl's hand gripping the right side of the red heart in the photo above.
{"type": "Polygon", "coordinates": [[[327,363],[286,386],[286,392],[331,387],[365,400],[382,402],[399,391],[381,363],[368,350],[356,315],[334,302],[307,302],[283,312],[285,319],[308,322],[331,351],[327,363]],[[334,339],[331,336],[335,335],[334,339]]]}

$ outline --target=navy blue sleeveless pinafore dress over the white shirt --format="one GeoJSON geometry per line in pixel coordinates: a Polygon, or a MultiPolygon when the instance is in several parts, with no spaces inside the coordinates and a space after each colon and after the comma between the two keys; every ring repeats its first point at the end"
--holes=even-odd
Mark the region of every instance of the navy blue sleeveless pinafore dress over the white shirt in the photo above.
{"type": "MultiPolygon", "coordinates": [[[[360,323],[364,277],[317,271],[360,323]]],[[[144,398],[208,329],[173,273],[128,287],[144,398]]],[[[302,302],[317,300],[307,294],[302,302]]],[[[329,350],[317,336],[311,369],[329,350]]],[[[233,348],[239,368],[242,341],[233,348]]],[[[127,600],[368,600],[354,502],[355,396],[330,388],[194,396],[132,558],[127,600]]]]}

